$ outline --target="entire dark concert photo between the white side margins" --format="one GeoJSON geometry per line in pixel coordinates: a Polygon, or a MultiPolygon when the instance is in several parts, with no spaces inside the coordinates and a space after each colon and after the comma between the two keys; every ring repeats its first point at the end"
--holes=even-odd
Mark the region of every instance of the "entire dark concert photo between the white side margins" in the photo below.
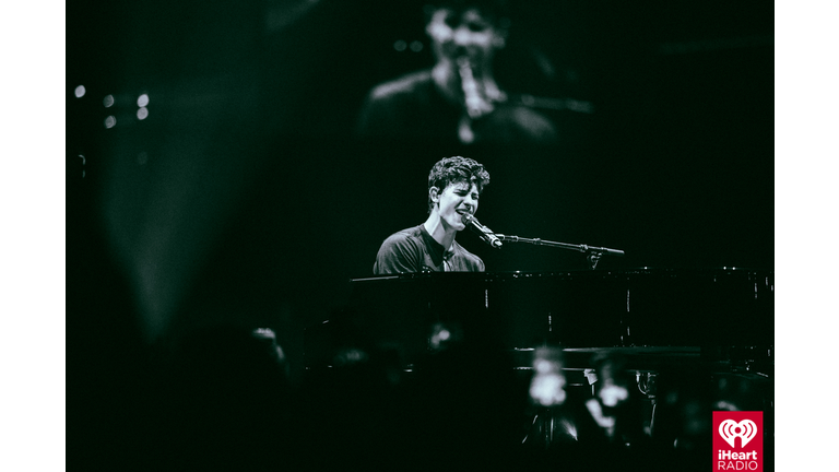
{"type": "Polygon", "coordinates": [[[66,469],[776,470],[773,2],[63,9],[66,469]]]}

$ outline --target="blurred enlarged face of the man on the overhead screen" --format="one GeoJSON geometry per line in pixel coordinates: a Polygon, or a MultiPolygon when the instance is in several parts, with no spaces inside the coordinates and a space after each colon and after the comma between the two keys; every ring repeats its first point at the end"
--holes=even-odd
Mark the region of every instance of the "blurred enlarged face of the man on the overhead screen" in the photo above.
{"type": "Polygon", "coordinates": [[[426,32],[438,60],[457,62],[459,57],[468,57],[473,67],[488,61],[493,51],[504,45],[504,35],[477,9],[462,13],[437,10],[426,32]]]}

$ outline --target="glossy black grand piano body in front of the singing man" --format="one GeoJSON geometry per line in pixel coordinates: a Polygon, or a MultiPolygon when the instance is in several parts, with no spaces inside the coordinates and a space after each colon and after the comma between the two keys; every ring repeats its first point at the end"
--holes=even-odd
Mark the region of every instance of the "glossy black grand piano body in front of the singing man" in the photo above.
{"type": "Polygon", "coordinates": [[[445,272],[352,279],[348,308],[307,330],[307,364],[346,337],[426,353],[434,330],[505,350],[692,353],[773,344],[769,270],[654,269],[445,272]],[[324,327],[333,331],[324,339],[324,327]],[[339,332],[335,332],[339,331],[339,332]]]}

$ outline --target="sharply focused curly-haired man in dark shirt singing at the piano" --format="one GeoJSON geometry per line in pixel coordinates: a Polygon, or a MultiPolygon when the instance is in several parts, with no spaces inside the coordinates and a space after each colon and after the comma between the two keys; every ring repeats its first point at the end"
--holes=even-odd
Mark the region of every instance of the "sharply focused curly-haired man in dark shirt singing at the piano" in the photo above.
{"type": "Polygon", "coordinates": [[[390,235],[373,266],[375,274],[411,272],[483,272],[484,261],[454,240],[466,227],[463,215],[474,215],[489,173],[477,162],[445,157],[428,175],[428,219],[390,235]]]}

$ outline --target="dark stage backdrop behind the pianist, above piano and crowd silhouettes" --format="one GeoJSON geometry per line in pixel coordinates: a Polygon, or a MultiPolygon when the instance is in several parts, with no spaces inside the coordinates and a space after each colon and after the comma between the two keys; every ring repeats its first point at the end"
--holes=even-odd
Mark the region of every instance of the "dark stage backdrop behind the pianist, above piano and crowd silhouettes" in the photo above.
{"type": "MultiPolygon", "coordinates": [[[[88,342],[103,334],[140,345],[234,321],[273,328],[299,369],[303,329],[346,302],[385,237],[425,220],[447,155],[492,174],[484,224],[626,251],[604,270],[773,268],[772,2],[513,2],[499,82],[594,107],[547,111],[557,146],[358,143],[369,88],[432,64],[422,5],[67,3],[69,364],[113,347],[88,342]]],[[[489,271],[583,268],[459,241],[489,271]]]]}

